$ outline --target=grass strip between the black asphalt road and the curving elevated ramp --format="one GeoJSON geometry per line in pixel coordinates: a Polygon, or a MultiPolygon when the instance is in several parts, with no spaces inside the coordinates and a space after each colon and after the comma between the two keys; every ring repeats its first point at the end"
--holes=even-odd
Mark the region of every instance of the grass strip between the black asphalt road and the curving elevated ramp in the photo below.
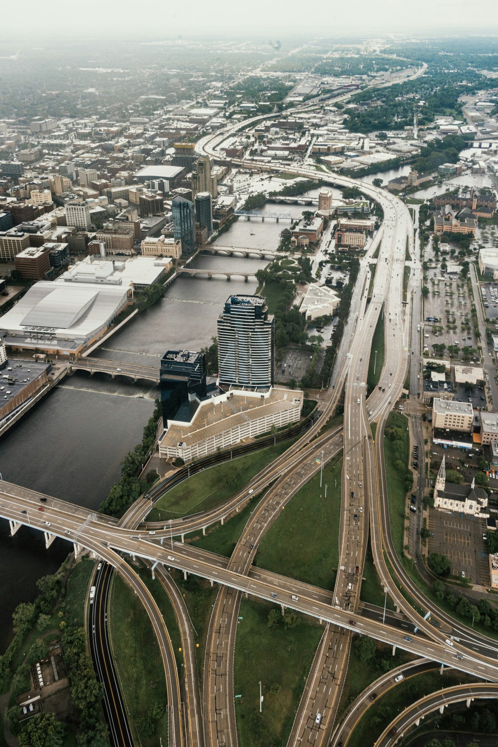
{"type": "Polygon", "coordinates": [[[150,715],[155,703],[166,707],[166,680],[149,616],[140,599],[118,574],[113,577],[108,619],[114,661],[125,695],[134,741],[143,747],[155,747],[161,737],[163,744],[167,744],[166,712],[155,722],[157,725],[152,737],[146,737],[140,731],[140,719],[150,715]]]}

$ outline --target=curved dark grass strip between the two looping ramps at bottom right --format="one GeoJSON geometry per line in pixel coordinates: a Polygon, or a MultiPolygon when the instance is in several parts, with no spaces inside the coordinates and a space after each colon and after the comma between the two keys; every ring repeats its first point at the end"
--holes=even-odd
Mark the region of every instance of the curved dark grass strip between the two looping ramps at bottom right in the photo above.
{"type": "Polygon", "coordinates": [[[364,745],[373,744],[407,704],[417,701],[423,695],[429,695],[442,687],[472,681],[473,678],[465,675],[464,672],[445,669],[443,675],[440,675],[439,669],[436,669],[434,672],[423,672],[421,675],[407,677],[396,686],[393,684],[384,695],[379,695],[379,698],[364,713],[349,737],[348,747],[364,747],[364,745]]]}

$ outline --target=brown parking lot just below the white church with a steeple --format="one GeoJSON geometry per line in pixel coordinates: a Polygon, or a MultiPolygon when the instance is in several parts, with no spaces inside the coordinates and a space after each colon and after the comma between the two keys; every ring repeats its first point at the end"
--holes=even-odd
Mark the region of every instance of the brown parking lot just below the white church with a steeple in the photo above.
{"type": "Polygon", "coordinates": [[[450,574],[461,578],[462,571],[471,583],[489,585],[488,553],[482,539],[486,520],[460,513],[429,509],[429,553],[451,560],[450,574]]]}

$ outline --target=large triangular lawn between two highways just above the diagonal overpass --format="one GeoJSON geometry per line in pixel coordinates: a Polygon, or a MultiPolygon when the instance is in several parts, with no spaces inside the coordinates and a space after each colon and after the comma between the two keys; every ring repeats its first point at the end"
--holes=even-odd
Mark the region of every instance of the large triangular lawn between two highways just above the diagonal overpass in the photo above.
{"type": "Polygon", "coordinates": [[[337,573],[342,459],[335,459],[294,495],[265,534],[260,568],[332,589],[337,573]],[[327,498],[325,497],[327,486],[327,498]]]}

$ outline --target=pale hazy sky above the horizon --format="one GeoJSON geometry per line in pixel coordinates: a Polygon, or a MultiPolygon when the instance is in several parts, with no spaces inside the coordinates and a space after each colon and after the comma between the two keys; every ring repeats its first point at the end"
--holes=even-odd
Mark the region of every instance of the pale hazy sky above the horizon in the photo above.
{"type": "MultiPolygon", "coordinates": [[[[265,37],[402,32],[498,34],[497,0],[22,0],[1,3],[0,37],[57,34],[92,37],[182,37],[220,34],[265,37]]],[[[40,38],[40,41],[42,39],[40,38]]],[[[46,42],[47,39],[43,38],[46,42]]],[[[0,49],[1,55],[1,49],[0,49]]]]}

